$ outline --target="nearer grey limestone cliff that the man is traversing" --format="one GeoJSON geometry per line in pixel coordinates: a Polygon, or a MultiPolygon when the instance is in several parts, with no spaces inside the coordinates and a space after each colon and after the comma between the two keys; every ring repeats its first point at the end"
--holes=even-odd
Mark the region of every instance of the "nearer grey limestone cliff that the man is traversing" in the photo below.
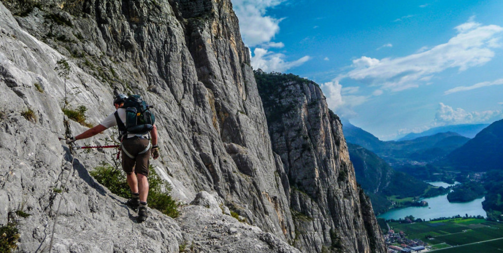
{"type": "MultiPolygon", "coordinates": [[[[230,1],[2,1],[0,91],[0,223],[19,221],[22,251],[48,249],[61,198],[53,246],[61,252],[173,252],[191,240],[202,251],[297,251],[287,243],[298,238],[287,174],[271,149],[230,1]],[[214,192],[217,207],[184,207],[176,220],[153,211],[150,222],[134,223],[123,199],[88,174],[113,151],[72,157],[57,139],[65,89],[54,67],[63,57],[71,67],[69,107],[85,105],[95,125],[114,111],[114,92],[140,94],[155,106],[161,158],[153,165],[174,197],[190,203],[198,192],[214,192]],[[54,192],[67,176],[64,193],[54,192]],[[220,205],[257,227],[222,214],[220,205]],[[12,216],[20,209],[31,216],[12,216]]],[[[70,121],[73,135],[86,129],[70,121]]],[[[115,132],[104,134],[78,144],[105,144],[115,132]]]]}

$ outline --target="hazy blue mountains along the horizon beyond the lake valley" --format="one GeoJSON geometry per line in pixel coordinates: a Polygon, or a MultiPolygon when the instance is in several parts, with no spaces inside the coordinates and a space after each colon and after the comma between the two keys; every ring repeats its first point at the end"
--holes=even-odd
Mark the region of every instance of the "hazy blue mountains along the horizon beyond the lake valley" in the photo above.
{"type": "MultiPolygon", "coordinates": [[[[483,172],[503,168],[503,120],[492,124],[456,125],[430,129],[431,132],[453,129],[412,140],[381,141],[371,133],[342,120],[348,143],[360,145],[393,166],[404,164],[432,164],[460,171],[483,172]],[[486,126],[472,138],[473,134],[486,126]]],[[[429,130],[429,131],[430,131],[429,130]]],[[[425,134],[425,131],[421,134],[425,134]]]]}

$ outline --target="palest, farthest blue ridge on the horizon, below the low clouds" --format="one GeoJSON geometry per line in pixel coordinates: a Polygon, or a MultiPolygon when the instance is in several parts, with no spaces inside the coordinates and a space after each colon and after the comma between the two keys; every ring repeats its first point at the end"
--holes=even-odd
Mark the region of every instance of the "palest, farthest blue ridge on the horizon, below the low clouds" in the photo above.
{"type": "Polygon", "coordinates": [[[478,132],[480,132],[487,126],[489,126],[489,124],[461,124],[461,125],[435,127],[421,133],[409,133],[404,137],[398,139],[398,141],[412,140],[418,137],[429,136],[445,132],[454,132],[467,138],[473,138],[478,132]]]}

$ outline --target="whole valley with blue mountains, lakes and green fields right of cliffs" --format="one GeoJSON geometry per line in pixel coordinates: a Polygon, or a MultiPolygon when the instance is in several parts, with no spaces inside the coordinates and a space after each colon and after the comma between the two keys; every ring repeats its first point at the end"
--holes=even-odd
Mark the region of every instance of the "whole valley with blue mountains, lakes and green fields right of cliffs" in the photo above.
{"type": "Polygon", "coordinates": [[[357,182],[371,198],[388,250],[501,252],[502,126],[500,120],[453,127],[462,134],[381,141],[345,122],[357,182]]]}

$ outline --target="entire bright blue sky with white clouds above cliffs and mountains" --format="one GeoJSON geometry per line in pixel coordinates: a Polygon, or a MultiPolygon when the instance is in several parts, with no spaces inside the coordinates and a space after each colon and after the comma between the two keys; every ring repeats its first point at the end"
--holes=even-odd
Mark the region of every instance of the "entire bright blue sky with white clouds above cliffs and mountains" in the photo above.
{"type": "Polygon", "coordinates": [[[232,3],[254,69],[316,81],[380,139],[503,118],[503,1],[232,3]]]}

